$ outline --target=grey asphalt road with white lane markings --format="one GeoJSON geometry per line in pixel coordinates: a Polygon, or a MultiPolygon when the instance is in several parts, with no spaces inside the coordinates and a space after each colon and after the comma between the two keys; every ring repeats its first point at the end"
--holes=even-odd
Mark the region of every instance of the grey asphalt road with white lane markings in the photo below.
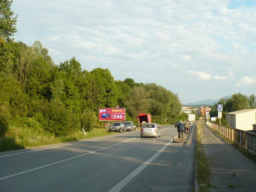
{"type": "Polygon", "coordinates": [[[173,143],[174,125],[162,136],[140,130],[0,153],[1,192],[172,192],[194,190],[194,128],[173,143]]]}

